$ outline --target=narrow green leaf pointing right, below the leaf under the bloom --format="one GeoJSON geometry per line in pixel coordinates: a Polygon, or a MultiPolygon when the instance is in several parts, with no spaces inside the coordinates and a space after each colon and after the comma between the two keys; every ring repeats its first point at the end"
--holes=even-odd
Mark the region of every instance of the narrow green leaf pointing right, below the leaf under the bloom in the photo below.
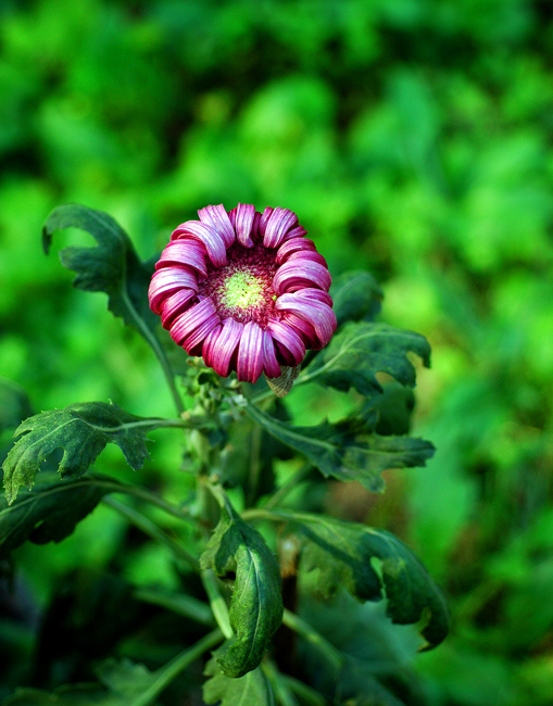
{"type": "Polygon", "coordinates": [[[359,480],[373,492],[384,490],[382,470],[424,466],[435,452],[423,439],[367,433],[355,421],[291,427],[249,402],[246,411],[271,434],[307,456],[324,476],[359,480]]]}

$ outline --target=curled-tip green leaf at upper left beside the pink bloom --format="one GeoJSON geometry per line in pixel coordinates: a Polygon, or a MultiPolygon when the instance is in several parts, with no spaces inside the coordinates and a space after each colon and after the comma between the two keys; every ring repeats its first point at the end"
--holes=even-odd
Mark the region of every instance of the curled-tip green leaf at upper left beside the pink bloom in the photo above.
{"type": "Polygon", "coordinates": [[[105,292],[109,310],[142,336],[144,328],[153,329],[158,317],[148,306],[153,263],[139,260],[118,223],[102,211],[76,203],[59,206],[50,213],[42,229],[47,254],[52,235],[63,228],[85,230],[98,242],[95,248],[65,248],[60,252],[62,265],[77,273],[73,285],[89,292],[105,292]]]}

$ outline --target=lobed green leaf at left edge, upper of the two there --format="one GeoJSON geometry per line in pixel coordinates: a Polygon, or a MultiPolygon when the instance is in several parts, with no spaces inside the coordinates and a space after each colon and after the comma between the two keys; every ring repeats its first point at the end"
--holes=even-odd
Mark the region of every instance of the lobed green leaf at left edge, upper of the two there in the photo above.
{"type": "Polygon", "coordinates": [[[8,502],[15,500],[21,486],[33,488],[41,463],[56,449],[63,449],[58,468],[62,477],[81,476],[108,443],[117,444],[135,470],[141,468],[148,458],[146,434],[160,423],[104,402],[72,404],[29,417],[15,430],[21,438],[3,464],[8,502]]]}

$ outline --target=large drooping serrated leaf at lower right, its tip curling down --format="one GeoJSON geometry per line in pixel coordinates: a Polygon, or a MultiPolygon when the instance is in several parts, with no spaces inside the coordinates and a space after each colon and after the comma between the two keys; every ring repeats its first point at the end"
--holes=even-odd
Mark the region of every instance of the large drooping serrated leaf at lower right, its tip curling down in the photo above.
{"type": "MultiPolygon", "coordinates": [[[[275,513],[278,515],[278,513],[275,513]]],[[[317,588],[327,597],[340,587],[361,601],[379,601],[384,592],[392,622],[426,618],[422,635],[428,647],[449,632],[449,612],[440,589],[397,537],[385,530],[307,513],[284,513],[306,541],[303,568],[318,569],[317,588]],[[380,560],[381,577],[370,565],[380,560]]]]}

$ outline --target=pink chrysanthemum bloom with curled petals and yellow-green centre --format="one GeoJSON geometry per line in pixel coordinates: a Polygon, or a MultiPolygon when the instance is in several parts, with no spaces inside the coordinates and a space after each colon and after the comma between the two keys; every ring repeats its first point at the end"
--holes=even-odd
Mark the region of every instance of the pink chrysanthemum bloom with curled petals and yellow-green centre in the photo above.
{"type": "Polygon", "coordinates": [[[248,382],[325,346],[336,330],[330,274],[297,215],[247,203],[198,215],[173,231],[148,292],[173,340],[248,382]]]}

